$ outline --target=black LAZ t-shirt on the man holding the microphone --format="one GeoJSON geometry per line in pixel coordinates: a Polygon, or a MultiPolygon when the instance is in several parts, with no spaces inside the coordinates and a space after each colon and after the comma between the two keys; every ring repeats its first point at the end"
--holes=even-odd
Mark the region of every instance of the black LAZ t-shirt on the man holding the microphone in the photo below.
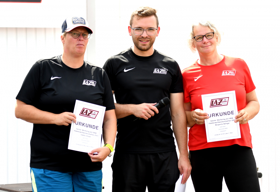
{"type": "MultiPolygon", "coordinates": [[[[154,50],[141,57],[129,48],[110,57],[105,69],[117,103],[157,103],[170,93],[183,92],[182,73],[178,63],[154,50]]],[[[169,106],[159,109],[148,120],[134,115],[118,119],[116,151],[156,153],[175,150],[169,106]],[[135,120],[135,121],[133,121],[135,120]]]]}

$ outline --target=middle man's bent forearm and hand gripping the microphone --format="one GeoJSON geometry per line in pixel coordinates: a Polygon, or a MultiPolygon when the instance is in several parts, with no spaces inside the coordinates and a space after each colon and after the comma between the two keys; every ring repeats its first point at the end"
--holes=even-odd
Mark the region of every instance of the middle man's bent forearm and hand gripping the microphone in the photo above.
{"type": "MultiPolygon", "coordinates": [[[[112,93],[114,95],[114,91],[112,91],[112,93]]],[[[147,120],[155,115],[154,111],[158,113],[158,109],[154,105],[156,105],[156,103],[142,103],[139,105],[115,103],[116,117],[117,119],[121,119],[128,115],[135,115],[136,117],[147,120]]]]}

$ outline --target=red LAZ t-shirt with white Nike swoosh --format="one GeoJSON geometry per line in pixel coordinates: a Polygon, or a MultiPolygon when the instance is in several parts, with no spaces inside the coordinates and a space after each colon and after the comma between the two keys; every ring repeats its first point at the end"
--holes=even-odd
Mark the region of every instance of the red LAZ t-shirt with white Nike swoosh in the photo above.
{"type": "MultiPolygon", "coordinates": [[[[224,56],[224,55],[223,55],[224,56]]],[[[191,102],[192,110],[202,109],[201,95],[235,91],[238,111],[246,106],[246,93],[256,87],[243,59],[226,57],[221,62],[203,66],[197,61],[182,71],[184,102],[191,102]]],[[[249,124],[240,124],[241,138],[207,143],[205,124],[189,129],[189,150],[224,147],[234,144],[252,148],[249,124]]]]}

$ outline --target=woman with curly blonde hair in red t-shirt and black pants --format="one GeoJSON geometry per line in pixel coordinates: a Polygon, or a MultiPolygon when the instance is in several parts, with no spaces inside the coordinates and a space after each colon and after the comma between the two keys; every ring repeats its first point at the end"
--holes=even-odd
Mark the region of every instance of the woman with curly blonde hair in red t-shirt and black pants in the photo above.
{"type": "Polygon", "coordinates": [[[196,192],[222,191],[222,180],[232,191],[260,191],[248,121],[259,112],[250,70],[243,59],[218,54],[221,35],[210,23],[192,26],[190,49],[199,59],[182,71],[184,108],[189,129],[191,177],[196,192]],[[207,142],[203,94],[235,91],[241,138],[207,142]]]}

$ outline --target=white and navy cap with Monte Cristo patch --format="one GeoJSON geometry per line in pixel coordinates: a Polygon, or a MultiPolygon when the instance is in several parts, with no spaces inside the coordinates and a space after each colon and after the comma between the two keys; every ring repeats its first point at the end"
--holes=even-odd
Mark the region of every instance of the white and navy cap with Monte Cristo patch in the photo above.
{"type": "Polygon", "coordinates": [[[89,33],[92,33],[92,30],[88,27],[88,22],[82,17],[67,17],[63,22],[61,28],[63,32],[69,32],[76,27],[86,27],[89,33]]]}

